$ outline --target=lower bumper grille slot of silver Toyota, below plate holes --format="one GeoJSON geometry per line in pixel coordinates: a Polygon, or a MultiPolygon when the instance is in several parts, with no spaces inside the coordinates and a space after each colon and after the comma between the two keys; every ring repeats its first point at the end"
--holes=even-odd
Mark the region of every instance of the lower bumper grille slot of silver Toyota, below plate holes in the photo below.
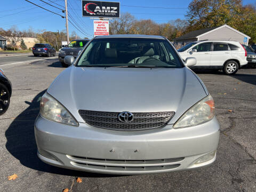
{"type": "Polygon", "coordinates": [[[70,156],[71,164],[77,167],[106,170],[106,171],[167,171],[180,166],[184,157],[171,159],[152,159],[152,160],[120,160],[120,159],[99,159],[70,156]]]}

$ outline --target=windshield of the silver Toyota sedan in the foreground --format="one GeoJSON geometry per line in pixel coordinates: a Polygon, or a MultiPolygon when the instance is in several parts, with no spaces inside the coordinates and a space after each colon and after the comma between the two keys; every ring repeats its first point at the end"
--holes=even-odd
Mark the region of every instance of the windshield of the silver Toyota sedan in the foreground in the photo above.
{"type": "Polygon", "coordinates": [[[183,67],[165,39],[94,39],[79,58],[79,67],[183,67]]]}

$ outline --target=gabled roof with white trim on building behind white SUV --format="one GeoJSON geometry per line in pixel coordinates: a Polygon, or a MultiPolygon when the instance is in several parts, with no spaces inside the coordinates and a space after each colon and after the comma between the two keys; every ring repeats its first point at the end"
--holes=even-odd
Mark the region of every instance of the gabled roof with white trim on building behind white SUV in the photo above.
{"type": "Polygon", "coordinates": [[[220,29],[222,27],[228,27],[229,29],[232,29],[232,30],[236,31],[239,34],[241,34],[241,35],[243,35],[245,37],[248,37],[249,39],[251,38],[251,37],[243,34],[242,32],[240,32],[240,31],[238,31],[238,30],[236,30],[236,29],[234,29],[234,28],[232,28],[232,27],[230,27],[230,26],[225,24],[225,25],[222,25],[222,26],[215,26],[215,27],[211,27],[211,28],[199,29],[199,30],[191,31],[191,32],[189,32],[189,33],[187,33],[185,35],[182,35],[182,36],[180,36],[178,38],[175,38],[174,41],[182,40],[182,39],[197,38],[197,37],[203,36],[203,35],[205,35],[207,33],[211,33],[212,31],[220,29]]]}

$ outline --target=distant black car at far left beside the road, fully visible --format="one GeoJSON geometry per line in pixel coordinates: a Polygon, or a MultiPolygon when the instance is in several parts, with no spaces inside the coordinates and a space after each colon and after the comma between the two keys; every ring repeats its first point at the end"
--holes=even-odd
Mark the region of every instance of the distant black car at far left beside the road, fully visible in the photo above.
{"type": "Polygon", "coordinates": [[[56,55],[56,50],[50,44],[47,43],[35,44],[32,48],[32,51],[35,57],[38,55],[44,55],[47,57],[51,57],[51,55],[56,55]]]}

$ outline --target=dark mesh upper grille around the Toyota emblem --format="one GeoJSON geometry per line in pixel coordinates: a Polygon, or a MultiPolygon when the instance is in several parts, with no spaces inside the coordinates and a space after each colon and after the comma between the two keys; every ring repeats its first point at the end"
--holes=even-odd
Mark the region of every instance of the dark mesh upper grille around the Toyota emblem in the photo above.
{"type": "Polygon", "coordinates": [[[163,127],[174,115],[174,111],[132,113],[133,121],[123,123],[118,119],[120,112],[91,110],[78,110],[78,112],[84,121],[91,126],[123,131],[146,130],[163,127]]]}

